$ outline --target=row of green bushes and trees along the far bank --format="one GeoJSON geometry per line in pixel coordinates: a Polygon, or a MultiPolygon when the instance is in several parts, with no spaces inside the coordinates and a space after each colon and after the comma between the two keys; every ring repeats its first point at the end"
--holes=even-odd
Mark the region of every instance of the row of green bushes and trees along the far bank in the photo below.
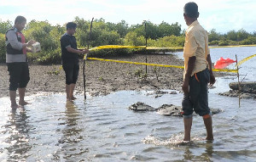
{"type": "MultiPolygon", "coordinates": [[[[142,24],[128,25],[125,20],[119,23],[106,22],[103,19],[94,20],[90,34],[90,20],[76,17],[73,22],[77,26],[76,38],[78,46],[83,48],[90,44],[90,47],[102,45],[130,45],[153,47],[183,47],[185,34],[181,25],[177,22],[168,24],[162,21],[155,25],[150,21],[143,21],[142,24]]],[[[5,32],[13,26],[9,20],[0,21],[0,62],[5,62],[5,32]]],[[[40,53],[28,53],[30,62],[39,64],[60,64],[61,45],[60,38],[66,32],[65,25],[50,25],[46,21],[32,20],[27,23],[22,31],[26,40],[33,39],[41,43],[40,53]]],[[[227,34],[220,34],[216,30],[209,31],[210,45],[234,45],[234,44],[256,44],[256,32],[248,33],[244,30],[229,31],[227,34]]],[[[103,49],[90,53],[91,55],[116,55],[137,53],[143,49],[103,49]]],[[[160,51],[152,51],[160,52],[160,51]]],[[[82,57],[82,56],[81,56],[82,57]]]]}

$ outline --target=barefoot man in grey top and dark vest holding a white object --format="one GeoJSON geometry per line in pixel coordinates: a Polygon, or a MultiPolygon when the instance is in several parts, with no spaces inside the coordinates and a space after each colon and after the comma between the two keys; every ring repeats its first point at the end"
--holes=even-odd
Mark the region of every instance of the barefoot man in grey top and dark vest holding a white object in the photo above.
{"type": "Polygon", "coordinates": [[[24,106],[28,104],[25,100],[26,85],[30,80],[26,52],[31,52],[27,47],[31,46],[34,41],[26,43],[25,36],[21,31],[25,28],[26,18],[17,16],[13,28],[6,31],[6,63],[9,70],[9,98],[11,108],[17,109],[16,90],[19,91],[19,104],[24,106]]]}

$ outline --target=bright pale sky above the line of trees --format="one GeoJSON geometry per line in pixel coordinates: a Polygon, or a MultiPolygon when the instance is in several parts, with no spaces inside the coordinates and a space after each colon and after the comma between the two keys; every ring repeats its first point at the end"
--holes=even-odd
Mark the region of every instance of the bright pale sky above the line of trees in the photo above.
{"type": "MultiPolygon", "coordinates": [[[[48,20],[51,25],[64,25],[76,16],[84,20],[103,19],[128,25],[143,20],[159,25],[162,21],[178,23],[187,28],[183,6],[188,0],[1,0],[0,21],[15,21],[17,15],[31,20],[48,20]]],[[[207,30],[219,33],[256,31],[255,0],[195,0],[199,7],[199,22],[207,30]]]]}

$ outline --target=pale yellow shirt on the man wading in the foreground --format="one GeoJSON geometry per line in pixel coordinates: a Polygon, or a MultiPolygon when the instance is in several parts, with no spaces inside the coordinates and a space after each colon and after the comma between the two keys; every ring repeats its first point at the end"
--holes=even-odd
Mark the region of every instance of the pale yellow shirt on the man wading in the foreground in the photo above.
{"type": "Polygon", "coordinates": [[[184,74],[188,70],[189,58],[195,56],[195,68],[192,70],[192,75],[202,70],[207,69],[207,55],[210,54],[208,47],[208,33],[204,28],[195,20],[186,31],[185,44],[183,48],[184,58],[184,74]]]}

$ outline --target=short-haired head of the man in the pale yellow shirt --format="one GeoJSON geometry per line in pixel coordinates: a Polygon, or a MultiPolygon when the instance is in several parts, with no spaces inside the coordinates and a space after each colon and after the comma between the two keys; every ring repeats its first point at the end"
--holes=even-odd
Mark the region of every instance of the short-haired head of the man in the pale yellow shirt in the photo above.
{"type": "Polygon", "coordinates": [[[183,8],[183,16],[187,25],[191,25],[199,17],[198,6],[196,3],[186,3],[183,8]]]}

